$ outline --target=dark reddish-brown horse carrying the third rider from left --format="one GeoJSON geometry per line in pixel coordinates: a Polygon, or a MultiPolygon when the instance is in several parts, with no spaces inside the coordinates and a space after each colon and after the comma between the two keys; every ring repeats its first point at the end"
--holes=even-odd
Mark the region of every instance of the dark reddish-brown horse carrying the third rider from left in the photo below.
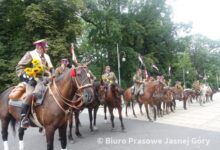
{"type": "Polygon", "coordinates": [[[114,114],[113,114],[114,108],[118,109],[119,120],[121,122],[122,131],[125,129],[123,119],[122,119],[122,112],[121,112],[122,111],[121,96],[123,95],[123,93],[124,93],[124,90],[118,84],[114,83],[107,87],[105,103],[104,103],[104,113],[105,113],[104,119],[107,121],[106,109],[108,107],[110,117],[111,117],[112,130],[115,129],[114,114]]]}

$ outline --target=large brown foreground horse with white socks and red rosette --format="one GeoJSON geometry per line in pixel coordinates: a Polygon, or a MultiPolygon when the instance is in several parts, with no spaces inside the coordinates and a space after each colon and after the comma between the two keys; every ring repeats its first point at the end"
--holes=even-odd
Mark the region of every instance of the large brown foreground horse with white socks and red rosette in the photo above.
{"type": "MultiPolygon", "coordinates": [[[[66,149],[67,114],[69,108],[79,108],[82,104],[91,103],[93,92],[91,81],[87,76],[86,66],[78,66],[64,73],[49,85],[43,104],[33,106],[39,123],[45,128],[47,150],[53,150],[54,133],[59,130],[61,147],[66,149]],[[71,76],[74,72],[75,76],[71,76]]],[[[4,149],[8,149],[8,125],[11,122],[15,129],[15,122],[20,121],[20,107],[9,105],[8,95],[11,88],[0,95],[0,118],[4,149]]],[[[24,128],[19,128],[19,150],[24,149],[24,128]]]]}

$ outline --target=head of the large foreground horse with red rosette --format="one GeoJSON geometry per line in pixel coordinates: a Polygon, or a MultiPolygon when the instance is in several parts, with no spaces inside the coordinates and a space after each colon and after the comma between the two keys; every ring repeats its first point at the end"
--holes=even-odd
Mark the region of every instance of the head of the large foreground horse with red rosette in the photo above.
{"type": "Polygon", "coordinates": [[[76,68],[72,68],[71,76],[77,86],[77,94],[82,94],[85,105],[90,104],[94,98],[94,93],[87,66],[78,65],[76,68]]]}

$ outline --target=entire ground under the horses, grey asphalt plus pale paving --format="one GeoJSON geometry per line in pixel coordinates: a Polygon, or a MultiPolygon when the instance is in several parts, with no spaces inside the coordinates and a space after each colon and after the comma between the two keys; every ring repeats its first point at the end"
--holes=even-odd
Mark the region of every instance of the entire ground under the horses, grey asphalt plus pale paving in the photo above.
{"type": "MultiPolygon", "coordinates": [[[[98,131],[89,131],[87,111],[80,115],[82,127],[80,131],[84,138],[74,136],[75,144],[68,143],[68,150],[217,150],[220,147],[220,94],[214,96],[214,102],[200,107],[195,103],[182,109],[178,103],[175,113],[158,118],[154,123],[147,121],[146,116],[138,114],[134,118],[124,117],[126,131],[121,132],[120,122],[115,118],[116,131],[111,131],[111,124],[104,123],[103,108],[99,110],[97,118],[98,131]],[[205,130],[204,130],[205,129],[205,130]]],[[[115,113],[117,114],[117,113],[115,113]]],[[[123,110],[124,114],[124,110],[123,110]]],[[[36,128],[29,128],[24,137],[25,150],[45,150],[45,136],[36,128]]],[[[13,137],[9,130],[9,150],[18,150],[18,137],[13,137]]],[[[54,150],[60,150],[58,134],[56,132],[54,150]]],[[[0,140],[0,150],[3,143],[0,140]]]]}

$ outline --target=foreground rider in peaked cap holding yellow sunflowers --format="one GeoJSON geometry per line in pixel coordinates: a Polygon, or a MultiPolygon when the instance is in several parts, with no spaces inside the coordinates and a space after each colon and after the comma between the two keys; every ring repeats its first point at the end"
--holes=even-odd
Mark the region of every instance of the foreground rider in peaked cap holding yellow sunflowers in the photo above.
{"type": "Polygon", "coordinates": [[[28,111],[32,99],[42,97],[42,90],[45,89],[45,84],[49,81],[49,78],[46,76],[50,75],[54,78],[53,65],[49,55],[46,54],[48,51],[47,41],[42,39],[34,42],[33,44],[36,48],[32,51],[26,52],[16,66],[17,76],[26,83],[26,98],[21,107],[22,128],[27,128],[29,126],[28,111]],[[29,66],[32,66],[33,68],[28,68],[29,66]],[[41,72],[36,71],[36,68],[34,67],[41,69],[41,72]]]}

